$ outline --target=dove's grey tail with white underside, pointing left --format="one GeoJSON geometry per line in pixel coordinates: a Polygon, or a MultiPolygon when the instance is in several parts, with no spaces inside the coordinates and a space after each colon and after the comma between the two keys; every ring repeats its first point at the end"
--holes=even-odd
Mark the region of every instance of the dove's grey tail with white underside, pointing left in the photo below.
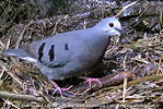
{"type": "Polygon", "coordinates": [[[14,56],[19,57],[26,61],[36,62],[36,59],[33,58],[31,55],[26,53],[23,49],[8,49],[2,52],[4,56],[14,56]]]}

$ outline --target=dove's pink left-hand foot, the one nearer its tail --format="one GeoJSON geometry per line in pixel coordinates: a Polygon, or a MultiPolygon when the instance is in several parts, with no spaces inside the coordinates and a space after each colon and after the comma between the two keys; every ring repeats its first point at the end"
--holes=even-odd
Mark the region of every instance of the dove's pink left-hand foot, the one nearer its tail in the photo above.
{"type": "Polygon", "coordinates": [[[60,94],[61,97],[63,97],[63,96],[62,96],[62,92],[69,90],[69,89],[72,87],[72,85],[71,85],[71,86],[69,86],[69,87],[67,87],[67,88],[60,88],[56,82],[54,82],[54,81],[50,81],[50,82],[51,82],[51,84],[53,84],[53,85],[55,86],[55,88],[56,88],[53,94],[56,94],[56,92],[59,92],[59,94],[60,94]]]}

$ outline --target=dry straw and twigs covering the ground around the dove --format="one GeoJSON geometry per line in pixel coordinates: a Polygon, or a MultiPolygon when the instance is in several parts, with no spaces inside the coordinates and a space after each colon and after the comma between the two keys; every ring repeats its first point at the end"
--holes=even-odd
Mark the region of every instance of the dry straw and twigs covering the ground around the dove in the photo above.
{"type": "MultiPolygon", "coordinates": [[[[159,11],[159,7],[155,8],[151,2],[140,4],[141,2],[138,2],[133,8],[139,12],[136,11],[127,16],[120,15],[125,10],[117,9],[126,36],[112,39],[103,64],[88,74],[101,77],[102,87],[94,83],[93,88],[90,89],[82,80],[68,78],[59,85],[67,87],[73,84],[74,87],[65,94],[66,98],[60,98],[59,95],[51,94],[53,85],[39,73],[35,64],[1,55],[0,107],[2,109],[161,107],[163,104],[163,11],[159,11]],[[155,13],[151,13],[151,10],[155,10],[155,13]]],[[[9,13],[5,14],[8,16],[9,13]]],[[[8,27],[1,24],[3,36],[0,39],[0,51],[19,48],[21,45],[57,33],[90,27],[100,19],[109,15],[108,9],[102,8],[84,14],[12,23],[8,27]]]]}

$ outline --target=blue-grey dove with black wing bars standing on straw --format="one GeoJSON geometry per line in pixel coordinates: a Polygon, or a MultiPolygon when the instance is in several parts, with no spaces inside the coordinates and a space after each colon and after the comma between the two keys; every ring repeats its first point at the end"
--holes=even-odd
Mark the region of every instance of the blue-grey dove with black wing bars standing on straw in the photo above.
{"type": "MultiPolygon", "coordinates": [[[[19,57],[36,63],[40,72],[55,86],[54,94],[70,89],[61,88],[55,80],[80,76],[102,60],[112,36],[123,34],[123,27],[117,17],[106,17],[93,27],[70,31],[24,45],[19,49],[7,49],[4,56],[19,57]]],[[[98,78],[83,77],[91,85],[98,78]]]]}

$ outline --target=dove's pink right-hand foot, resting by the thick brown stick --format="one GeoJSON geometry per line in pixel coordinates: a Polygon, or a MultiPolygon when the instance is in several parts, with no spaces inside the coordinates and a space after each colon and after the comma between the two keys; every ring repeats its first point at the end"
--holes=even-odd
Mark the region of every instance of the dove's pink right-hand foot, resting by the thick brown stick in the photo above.
{"type": "Polygon", "coordinates": [[[100,78],[91,78],[85,76],[80,76],[80,78],[85,80],[84,83],[89,83],[90,88],[92,87],[92,82],[97,82],[102,86],[102,82],[100,81],[100,78]]]}

